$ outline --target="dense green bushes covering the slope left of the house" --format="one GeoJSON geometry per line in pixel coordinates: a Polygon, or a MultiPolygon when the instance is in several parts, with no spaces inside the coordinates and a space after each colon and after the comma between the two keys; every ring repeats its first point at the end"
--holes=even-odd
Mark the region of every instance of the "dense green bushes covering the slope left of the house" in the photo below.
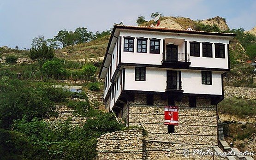
{"type": "Polygon", "coordinates": [[[93,160],[96,138],[124,128],[112,113],[103,113],[71,94],[42,83],[0,80],[0,157],[4,160],[93,160]],[[54,116],[54,104],[67,103],[88,120],[83,127],[50,125],[42,120],[54,116]]]}

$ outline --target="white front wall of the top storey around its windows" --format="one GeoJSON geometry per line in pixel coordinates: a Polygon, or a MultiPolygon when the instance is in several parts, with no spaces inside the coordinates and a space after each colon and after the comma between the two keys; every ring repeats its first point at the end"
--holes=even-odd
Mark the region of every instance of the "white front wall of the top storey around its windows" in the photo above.
{"type": "MultiPolygon", "coordinates": [[[[190,57],[191,67],[205,67],[205,68],[228,68],[228,59],[227,59],[227,44],[229,43],[228,37],[225,36],[207,36],[207,35],[192,35],[192,34],[177,34],[177,33],[161,33],[161,32],[152,32],[152,31],[120,31],[122,36],[121,44],[121,62],[125,63],[138,63],[138,64],[152,64],[152,65],[161,65],[162,53],[163,53],[163,40],[168,38],[174,39],[185,39],[187,41],[187,53],[190,53],[190,41],[198,42],[210,42],[210,43],[223,43],[225,45],[225,59],[215,58],[215,49],[213,45],[213,58],[202,57],[202,44],[200,45],[200,57],[190,57]],[[135,37],[134,39],[134,53],[124,52],[124,36],[135,37]],[[149,39],[147,45],[147,53],[137,53],[137,37],[144,38],[157,38],[161,39],[160,41],[160,54],[150,54],[149,53],[149,39]]],[[[171,42],[168,40],[168,42],[171,42]]],[[[175,44],[175,42],[174,42],[175,44]]],[[[178,46],[179,53],[185,53],[185,45],[175,44],[178,46]]],[[[165,50],[166,51],[166,50],[165,50]]]]}

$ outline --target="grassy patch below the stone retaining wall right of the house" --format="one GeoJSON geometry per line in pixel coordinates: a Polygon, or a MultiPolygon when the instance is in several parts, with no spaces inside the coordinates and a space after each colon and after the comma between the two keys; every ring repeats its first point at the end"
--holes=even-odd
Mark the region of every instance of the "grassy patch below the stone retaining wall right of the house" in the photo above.
{"type": "Polygon", "coordinates": [[[225,98],[218,104],[221,114],[228,114],[239,118],[256,116],[256,101],[238,98],[225,98]]]}

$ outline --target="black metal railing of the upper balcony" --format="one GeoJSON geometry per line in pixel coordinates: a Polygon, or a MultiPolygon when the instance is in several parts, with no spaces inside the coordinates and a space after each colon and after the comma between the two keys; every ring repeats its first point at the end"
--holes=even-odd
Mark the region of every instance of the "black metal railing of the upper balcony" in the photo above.
{"type": "Polygon", "coordinates": [[[167,62],[189,62],[189,53],[167,53],[163,52],[163,61],[167,62]]]}

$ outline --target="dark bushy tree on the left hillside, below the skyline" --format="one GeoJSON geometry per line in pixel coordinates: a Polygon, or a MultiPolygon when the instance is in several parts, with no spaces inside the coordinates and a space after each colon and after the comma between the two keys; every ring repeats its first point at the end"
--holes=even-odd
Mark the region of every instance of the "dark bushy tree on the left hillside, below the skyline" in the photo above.
{"type": "Polygon", "coordinates": [[[30,49],[30,58],[33,60],[42,59],[43,61],[52,59],[54,58],[54,49],[48,47],[46,42],[43,42],[42,45],[30,49]]]}

